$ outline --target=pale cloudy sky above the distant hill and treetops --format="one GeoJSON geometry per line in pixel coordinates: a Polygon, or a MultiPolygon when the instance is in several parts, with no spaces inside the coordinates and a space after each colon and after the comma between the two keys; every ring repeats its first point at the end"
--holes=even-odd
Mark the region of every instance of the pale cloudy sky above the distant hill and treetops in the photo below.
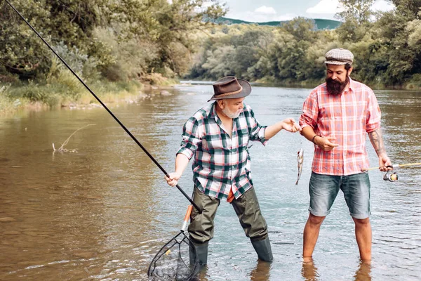
{"type": "MultiPolygon", "coordinates": [[[[335,20],[338,0],[218,0],[226,4],[227,18],[248,22],[268,22],[292,20],[295,17],[325,18],[335,20]]],[[[376,0],[373,11],[390,11],[393,4],[386,0],[376,0]]]]}

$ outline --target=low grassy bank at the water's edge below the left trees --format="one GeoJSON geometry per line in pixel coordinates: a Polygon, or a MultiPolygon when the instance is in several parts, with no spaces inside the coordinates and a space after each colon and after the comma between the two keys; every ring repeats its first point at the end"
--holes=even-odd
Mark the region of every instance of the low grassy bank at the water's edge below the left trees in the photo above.
{"type": "MultiPolygon", "coordinates": [[[[79,81],[77,81],[79,83],[79,81]]],[[[90,89],[105,105],[139,103],[158,94],[168,96],[167,91],[178,81],[151,85],[139,81],[98,81],[90,89]]],[[[0,84],[0,117],[13,116],[18,112],[32,112],[54,108],[92,109],[102,107],[89,91],[79,84],[0,84]]]]}

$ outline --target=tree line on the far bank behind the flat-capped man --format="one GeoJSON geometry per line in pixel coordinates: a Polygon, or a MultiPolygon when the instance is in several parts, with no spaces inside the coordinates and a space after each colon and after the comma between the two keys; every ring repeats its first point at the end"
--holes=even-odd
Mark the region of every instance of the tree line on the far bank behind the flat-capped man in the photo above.
{"type": "Polygon", "coordinates": [[[421,1],[393,0],[396,8],[373,13],[373,0],[342,0],[343,22],[317,30],[295,18],[280,27],[220,26],[203,39],[189,73],[192,79],[236,75],[250,81],[316,84],[325,77],[325,53],[354,53],[352,77],[373,86],[421,86],[421,1]]]}

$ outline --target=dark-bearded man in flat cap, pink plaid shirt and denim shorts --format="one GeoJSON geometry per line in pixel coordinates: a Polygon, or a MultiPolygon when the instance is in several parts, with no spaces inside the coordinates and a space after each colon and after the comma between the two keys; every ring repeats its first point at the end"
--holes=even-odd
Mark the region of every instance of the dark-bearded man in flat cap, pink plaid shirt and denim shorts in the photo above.
{"type": "Polygon", "coordinates": [[[314,143],[309,182],[309,218],[303,258],[312,261],[324,218],[342,190],[355,223],[361,260],[371,260],[370,180],[366,133],[379,158],[380,171],[392,169],[380,128],[380,108],[368,86],[352,80],[354,55],[343,48],[326,53],[326,83],[307,97],[300,116],[302,136],[314,143]]]}

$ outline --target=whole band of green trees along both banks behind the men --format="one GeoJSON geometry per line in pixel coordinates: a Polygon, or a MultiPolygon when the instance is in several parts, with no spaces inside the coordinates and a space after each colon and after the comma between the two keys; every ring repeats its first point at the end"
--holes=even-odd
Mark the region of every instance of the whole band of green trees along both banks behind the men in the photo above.
{"type": "MultiPolygon", "coordinates": [[[[212,0],[11,0],[83,79],[160,83],[166,78],[323,81],[330,48],[354,53],[353,78],[373,86],[421,86],[421,0],[341,0],[335,30],[295,18],[279,27],[215,25],[212,0]]],[[[51,51],[0,4],[0,81],[66,82],[51,51]]]]}

